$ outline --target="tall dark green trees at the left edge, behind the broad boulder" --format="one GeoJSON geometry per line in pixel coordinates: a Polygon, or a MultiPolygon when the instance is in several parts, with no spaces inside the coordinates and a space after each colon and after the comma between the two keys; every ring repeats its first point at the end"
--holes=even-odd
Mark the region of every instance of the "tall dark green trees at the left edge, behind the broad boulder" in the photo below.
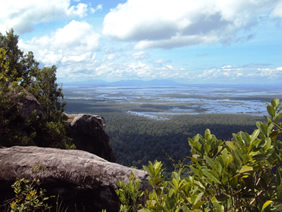
{"type": "Polygon", "coordinates": [[[56,66],[40,69],[33,53],[18,48],[18,36],[0,33],[0,145],[38,145],[75,148],[66,136],[62,88],[56,83],[56,66]],[[19,117],[19,102],[28,92],[39,101],[43,117],[36,111],[19,117]]]}

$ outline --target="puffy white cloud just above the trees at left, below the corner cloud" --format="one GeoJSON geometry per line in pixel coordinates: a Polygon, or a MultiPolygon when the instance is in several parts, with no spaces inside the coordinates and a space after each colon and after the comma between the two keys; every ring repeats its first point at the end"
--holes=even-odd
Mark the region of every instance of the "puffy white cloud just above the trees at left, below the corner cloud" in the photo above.
{"type": "Polygon", "coordinates": [[[99,34],[86,22],[71,21],[52,35],[19,40],[25,52],[33,51],[36,59],[52,65],[78,63],[93,59],[93,51],[99,47],[99,34]]]}

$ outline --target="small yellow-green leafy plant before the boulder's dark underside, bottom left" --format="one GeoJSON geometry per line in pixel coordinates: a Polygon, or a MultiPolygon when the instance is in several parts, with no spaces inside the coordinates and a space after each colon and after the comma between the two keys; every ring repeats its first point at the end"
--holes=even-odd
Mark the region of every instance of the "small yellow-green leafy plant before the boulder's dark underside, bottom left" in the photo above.
{"type": "Polygon", "coordinates": [[[39,179],[18,179],[12,185],[15,198],[10,203],[11,212],[50,210],[52,207],[46,203],[50,197],[46,197],[46,191],[39,188],[39,185],[39,179]]]}

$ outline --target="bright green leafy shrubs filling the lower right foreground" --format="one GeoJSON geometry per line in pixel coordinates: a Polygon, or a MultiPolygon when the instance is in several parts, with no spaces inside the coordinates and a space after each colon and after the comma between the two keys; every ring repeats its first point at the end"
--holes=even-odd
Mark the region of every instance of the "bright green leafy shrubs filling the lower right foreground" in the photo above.
{"type": "Polygon", "coordinates": [[[234,133],[232,141],[218,140],[209,129],[189,138],[191,164],[183,167],[189,176],[180,168],[165,181],[162,163],[144,166],[152,191],[136,211],[281,211],[281,105],[272,100],[266,124],[258,121],[253,133],[234,133]]]}

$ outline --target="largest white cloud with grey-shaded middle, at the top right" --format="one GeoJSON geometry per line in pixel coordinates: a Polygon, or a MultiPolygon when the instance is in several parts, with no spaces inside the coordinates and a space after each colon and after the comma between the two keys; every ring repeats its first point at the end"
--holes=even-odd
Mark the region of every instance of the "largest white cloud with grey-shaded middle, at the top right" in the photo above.
{"type": "Polygon", "coordinates": [[[248,39],[247,31],[259,16],[275,7],[280,12],[276,4],[277,0],[128,0],[105,16],[103,33],[138,41],[137,49],[230,43],[242,40],[239,34],[248,39]]]}

